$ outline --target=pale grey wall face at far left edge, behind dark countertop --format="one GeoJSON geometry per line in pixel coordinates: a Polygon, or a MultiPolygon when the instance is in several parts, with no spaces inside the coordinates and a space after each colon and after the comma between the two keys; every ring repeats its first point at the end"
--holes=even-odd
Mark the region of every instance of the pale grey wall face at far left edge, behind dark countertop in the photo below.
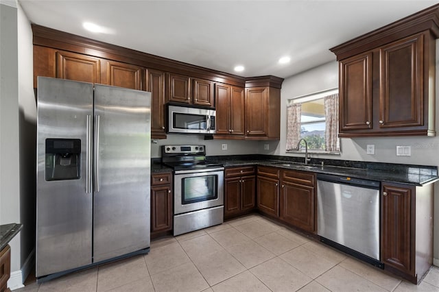
{"type": "MultiPolygon", "coordinates": [[[[16,8],[0,3],[0,224],[20,222],[19,73],[16,8]]],[[[11,242],[11,271],[20,263],[20,234],[11,242]]]]}

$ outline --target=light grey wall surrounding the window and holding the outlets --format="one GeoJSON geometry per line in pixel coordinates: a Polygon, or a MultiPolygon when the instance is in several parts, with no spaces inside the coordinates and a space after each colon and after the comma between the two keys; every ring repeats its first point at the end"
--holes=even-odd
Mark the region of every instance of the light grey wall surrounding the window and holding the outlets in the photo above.
{"type": "MultiPolygon", "coordinates": [[[[439,97],[439,40],[436,50],[436,96],[439,97]]],[[[321,90],[338,87],[338,64],[335,61],[318,66],[315,69],[294,75],[285,79],[281,90],[281,140],[276,149],[272,151],[274,155],[281,156],[302,156],[301,154],[285,153],[286,141],[286,102],[300,95],[316,93],[321,90]]],[[[439,114],[439,102],[436,102],[436,117],[439,114]]],[[[382,137],[382,138],[342,138],[340,155],[311,154],[311,157],[340,159],[340,160],[359,160],[370,162],[389,162],[412,165],[432,165],[439,166],[439,119],[436,119],[436,137],[382,137]],[[375,145],[375,155],[366,154],[366,145],[375,145]],[[396,145],[408,145],[412,147],[412,156],[396,156],[396,145]]],[[[271,145],[270,145],[271,146],[271,145]]],[[[276,145],[273,145],[276,146],[276,145]]],[[[259,145],[259,153],[263,153],[263,143],[259,145]]],[[[435,184],[435,197],[439,195],[439,184],[435,184]]],[[[436,265],[439,264],[439,199],[435,202],[434,220],[434,258],[436,265]]]]}

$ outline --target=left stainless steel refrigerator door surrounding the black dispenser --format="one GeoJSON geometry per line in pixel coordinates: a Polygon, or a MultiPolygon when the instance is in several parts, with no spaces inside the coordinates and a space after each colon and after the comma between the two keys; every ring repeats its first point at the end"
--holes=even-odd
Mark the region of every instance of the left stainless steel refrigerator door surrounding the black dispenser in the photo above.
{"type": "Polygon", "coordinates": [[[93,84],[38,77],[37,277],[91,264],[93,205],[92,194],[86,193],[86,149],[91,141],[86,128],[92,114],[93,84]],[[45,171],[56,169],[50,165],[55,154],[45,154],[49,138],[60,139],[50,146],[52,153],[80,139],[80,154],[75,154],[79,165],[78,160],[71,162],[70,154],[58,156],[58,169],[78,165],[79,178],[46,180],[45,171]]]}

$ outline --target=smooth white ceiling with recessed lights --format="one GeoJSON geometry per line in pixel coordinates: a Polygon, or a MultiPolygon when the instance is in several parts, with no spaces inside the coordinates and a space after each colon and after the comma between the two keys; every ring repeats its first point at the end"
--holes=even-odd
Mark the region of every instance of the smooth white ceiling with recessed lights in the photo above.
{"type": "Polygon", "coordinates": [[[18,0],[32,23],[244,77],[288,77],[329,48],[438,1],[18,0]],[[109,34],[87,32],[84,21],[109,34]],[[290,56],[289,64],[278,64],[290,56]],[[235,73],[241,64],[245,71],[235,73]]]}

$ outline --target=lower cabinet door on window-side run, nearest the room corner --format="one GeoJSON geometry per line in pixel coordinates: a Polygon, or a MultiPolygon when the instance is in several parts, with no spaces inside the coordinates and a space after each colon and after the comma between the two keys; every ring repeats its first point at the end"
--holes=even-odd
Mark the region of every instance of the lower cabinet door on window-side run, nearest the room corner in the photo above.
{"type": "Polygon", "coordinates": [[[272,178],[258,176],[257,178],[257,206],[261,212],[279,216],[279,181],[272,178]]]}

